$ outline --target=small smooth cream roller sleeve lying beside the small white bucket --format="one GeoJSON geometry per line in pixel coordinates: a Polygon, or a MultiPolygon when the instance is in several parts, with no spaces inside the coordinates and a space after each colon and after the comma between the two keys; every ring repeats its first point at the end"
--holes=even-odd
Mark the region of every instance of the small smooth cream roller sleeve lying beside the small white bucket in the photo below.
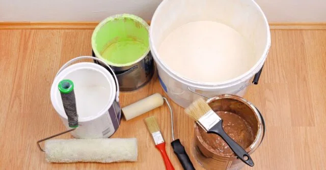
{"type": "Polygon", "coordinates": [[[159,93],[154,93],[129,106],[122,108],[121,110],[126,120],[130,120],[157,107],[162,106],[163,103],[164,100],[162,96],[159,93]]]}

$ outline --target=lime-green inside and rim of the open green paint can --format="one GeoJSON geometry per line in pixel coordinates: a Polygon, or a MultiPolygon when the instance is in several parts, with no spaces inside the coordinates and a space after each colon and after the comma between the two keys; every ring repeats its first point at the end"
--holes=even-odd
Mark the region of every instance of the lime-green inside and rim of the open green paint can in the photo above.
{"type": "Polygon", "coordinates": [[[136,63],[149,52],[148,28],[143,19],[131,14],[108,17],[93,32],[93,51],[109,65],[136,63]]]}

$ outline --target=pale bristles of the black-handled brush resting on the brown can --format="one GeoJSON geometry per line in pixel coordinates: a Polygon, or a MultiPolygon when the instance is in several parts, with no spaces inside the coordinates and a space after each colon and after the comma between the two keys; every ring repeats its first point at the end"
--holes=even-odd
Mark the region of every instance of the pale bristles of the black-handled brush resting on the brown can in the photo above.
{"type": "Polygon", "coordinates": [[[206,101],[203,98],[199,98],[189,105],[184,112],[195,121],[198,121],[199,118],[210,110],[212,109],[209,107],[206,101]]]}

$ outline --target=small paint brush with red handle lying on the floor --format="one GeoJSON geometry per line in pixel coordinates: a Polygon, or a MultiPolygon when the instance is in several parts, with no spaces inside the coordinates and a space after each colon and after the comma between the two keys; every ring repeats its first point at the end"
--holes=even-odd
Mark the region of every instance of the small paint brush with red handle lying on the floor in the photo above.
{"type": "Polygon", "coordinates": [[[174,167],[173,167],[173,165],[168,157],[168,154],[165,150],[165,141],[164,141],[162,134],[159,130],[158,123],[157,123],[155,117],[151,116],[151,117],[146,118],[145,123],[147,125],[149,132],[152,134],[156,148],[160,151],[160,153],[164,159],[166,169],[174,170],[174,167]]]}

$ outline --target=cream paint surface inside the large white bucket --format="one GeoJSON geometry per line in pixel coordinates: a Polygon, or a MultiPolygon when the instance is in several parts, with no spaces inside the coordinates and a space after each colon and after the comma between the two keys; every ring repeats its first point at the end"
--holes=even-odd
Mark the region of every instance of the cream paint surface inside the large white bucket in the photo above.
{"type": "Polygon", "coordinates": [[[231,80],[257,61],[250,41],[214,21],[179,26],[161,43],[158,54],[174,72],[198,82],[231,80]]]}

